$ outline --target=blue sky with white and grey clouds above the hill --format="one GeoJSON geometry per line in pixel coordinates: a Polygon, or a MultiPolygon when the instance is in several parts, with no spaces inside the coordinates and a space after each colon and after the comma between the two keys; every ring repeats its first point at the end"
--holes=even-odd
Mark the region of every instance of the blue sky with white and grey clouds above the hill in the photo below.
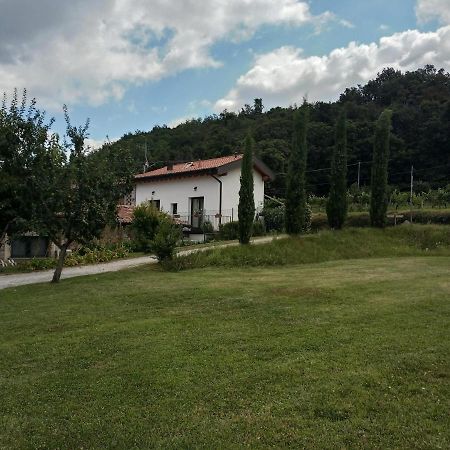
{"type": "Polygon", "coordinates": [[[0,0],[0,91],[90,144],[155,125],[332,101],[384,67],[450,70],[450,0],[0,0]]]}

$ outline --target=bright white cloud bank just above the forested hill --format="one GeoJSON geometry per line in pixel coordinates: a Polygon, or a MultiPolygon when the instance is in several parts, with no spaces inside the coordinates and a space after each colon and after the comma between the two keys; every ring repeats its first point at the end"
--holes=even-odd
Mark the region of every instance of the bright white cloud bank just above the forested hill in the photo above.
{"type": "Polygon", "coordinates": [[[216,111],[237,110],[254,98],[266,106],[335,100],[346,87],[365,83],[385,67],[415,70],[426,64],[450,69],[450,26],[432,33],[409,30],[368,45],[351,42],[325,56],[303,57],[302,50],[281,47],[255,58],[216,111]]]}

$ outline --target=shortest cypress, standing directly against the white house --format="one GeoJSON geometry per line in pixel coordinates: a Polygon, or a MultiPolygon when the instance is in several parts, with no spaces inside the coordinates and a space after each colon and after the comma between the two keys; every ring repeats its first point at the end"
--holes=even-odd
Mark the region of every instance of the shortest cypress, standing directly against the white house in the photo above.
{"type": "Polygon", "coordinates": [[[250,134],[245,139],[244,157],[241,167],[241,187],[239,189],[239,242],[248,244],[255,219],[255,199],[253,195],[253,139],[250,134]]]}

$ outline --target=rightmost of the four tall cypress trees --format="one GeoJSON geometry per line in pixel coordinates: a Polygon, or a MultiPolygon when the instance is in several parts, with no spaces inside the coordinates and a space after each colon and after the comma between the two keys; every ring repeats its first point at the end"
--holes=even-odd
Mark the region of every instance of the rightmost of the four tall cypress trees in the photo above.
{"type": "Polygon", "coordinates": [[[389,109],[380,114],[375,126],[373,142],[370,223],[373,227],[379,228],[383,228],[386,224],[388,207],[387,182],[391,119],[392,111],[389,109]]]}

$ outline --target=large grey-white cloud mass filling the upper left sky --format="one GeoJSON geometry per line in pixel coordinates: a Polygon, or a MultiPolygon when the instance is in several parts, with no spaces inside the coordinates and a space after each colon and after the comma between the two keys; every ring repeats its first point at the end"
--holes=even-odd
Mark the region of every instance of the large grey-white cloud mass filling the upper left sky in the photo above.
{"type": "Polygon", "coordinates": [[[265,24],[319,28],[299,0],[0,0],[0,91],[26,87],[40,104],[120,99],[129,85],[217,67],[210,49],[265,24]],[[25,12],[25,13],[24,13],[25,12]]]}

